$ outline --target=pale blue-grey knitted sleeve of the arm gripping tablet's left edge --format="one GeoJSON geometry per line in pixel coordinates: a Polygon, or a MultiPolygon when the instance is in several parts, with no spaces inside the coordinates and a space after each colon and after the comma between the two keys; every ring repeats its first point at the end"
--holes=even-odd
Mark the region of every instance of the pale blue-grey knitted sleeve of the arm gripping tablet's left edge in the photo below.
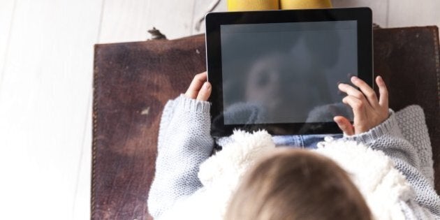
{"type": "Polygon", "coordinates": [[[202,186],[197,174],[214,145],[210,126],[210,103],[181,94],[166,104],[159,125],[156,173],[147,200],[154,219],[202,186]]]}

